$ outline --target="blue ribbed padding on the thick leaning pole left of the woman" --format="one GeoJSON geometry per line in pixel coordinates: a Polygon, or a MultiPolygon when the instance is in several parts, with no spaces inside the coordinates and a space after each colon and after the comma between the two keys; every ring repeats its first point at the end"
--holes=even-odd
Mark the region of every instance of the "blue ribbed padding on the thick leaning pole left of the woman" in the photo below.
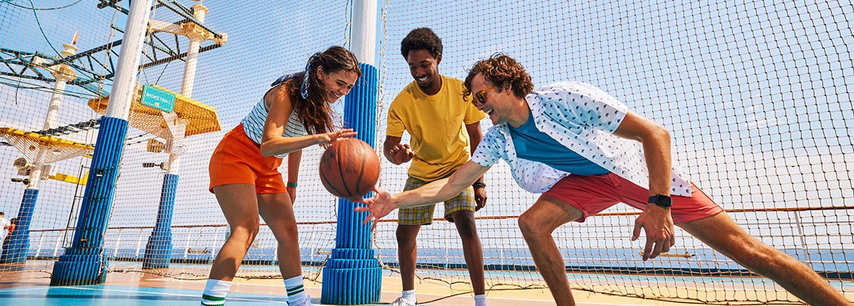
{"type": "Polygon", "coordinates": [[[54,264],[50,285],[95,285],[106,278],[103,236],[113,209],[115,179],[119,175],[126,134],[127,121],[102,118],[77,230],[71,248],[54,264]]]}

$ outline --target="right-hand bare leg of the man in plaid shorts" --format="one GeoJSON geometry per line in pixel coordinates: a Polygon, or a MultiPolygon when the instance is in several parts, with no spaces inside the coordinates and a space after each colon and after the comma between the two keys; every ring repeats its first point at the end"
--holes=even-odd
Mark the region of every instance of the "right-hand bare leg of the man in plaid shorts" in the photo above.
{"type": "Polygon", "coordinates": [[[486,293],[483,282],[483,246],[477,236],[475,213],[469,210],[453,212],[453,224],[457,227],[459,238],[463,241],[463,256],[465,265],[469,267],[471,288],[475,295],[486,293]]]}

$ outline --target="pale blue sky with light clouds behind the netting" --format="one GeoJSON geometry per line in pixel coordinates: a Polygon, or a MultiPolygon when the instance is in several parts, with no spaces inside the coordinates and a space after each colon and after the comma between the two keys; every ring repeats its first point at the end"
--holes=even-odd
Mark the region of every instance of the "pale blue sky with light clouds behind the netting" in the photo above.
{"type": "MultiPolygon", "coordinates": [[[[182,3],[190,6],[196,2],[182,3]]],[[[272,80],[300,70],[307,56],[315,51],[333,44],[347,47],[348,29],[353,26],[348,24],[352,4],[347,1],[234,5],[230,1],[205,0],[202,4],[209,9],[205,23],[226,32],[228,42],[200,54],[193,98],[217,109],[223,130],[185,139],[173,217],[176,226],[225,224],[207,186],[207,162],[213,147],[259,101],[272,80]]],[[[851,4],[379,4],[377,67],[381,89],[377,144],[383,138],[389,103],[412,81],[400,55],[400,40],[413,28],[429,26],[444,44],[441,74],[463,79],[475,61],[503,52],[523,63],[535,86],[561,80],[588,82],[640,115],[662,123],[674,139],[674,161],[726,209],[854,204],[852,127],[845,121],[854,118],[854,63],[851,48],[845,42],[852,36],[851,21],[846,19],[854,14],[851,4]]],[[[56,55],[54,50],[61,50],[61,44],[67,44],[77,31],[79,50],[89,50],[120,39],[120,30],[125,27],[124,15],[113,9],[97,9],[97,2],[92,0],[34,0],[32,5],[20,0],[0,3],[0,47],[56,55]],[[38,9],[24,9],[13,3],[38,9]]],[[[155,9],[152,19],[177,21],[163,7],[155,9]]],[[[157,84],[180,91],[183,69],[184,62],[171,62],[145,69],[137,78],[143,85],[157,84]]],[[[49,93],[16,89],[16,79],[6,76],[0,81],[3,127],[38,130],[44,121],[49,93]]],[[[97,118],[85,102],[85,97],[67,97],[57,124],[97,118]]],[[[342,109],[342,102],[336,103],[336,109],[342,109]]],[[[488,126],[484,121],[483,130],[488,126]]],[[[94,143],[96,136],[89,132],[67,138],[94,143]]],[[[132,129],[127,136],[110,224],[152,226],[163,172],[159,168],[142,168],[141,164],[164,162],[167,156],[144,150],[150,135],[132,129]]],[[[296,207],[300,221],[336,218],[334,198],[317,180],[320,154],[322,150],[317,147],[305,150],[299,169],[301,188],[296,207]]],[[[9,178],[17,177],[11,168],[11,161],[17,157],[11,147],[0,147],[0,165],[6,165],[0,167],[6,169],[2,173],[9,178]]],[[[88,160],[81,158],[58,163],[57,167],[71,173],[86,163],[88,160]]],[[[383,162],[380,184],[389,191],[400,191],[406,167],[383,162]]],[[[507,171],[506,164],[501,163],[488,173],[489,206],[478,216],[518,215],[535,200],[535,195],[521,191],[512,182],[507,171]]],[[[0,196],[0,210],[14,215],[23,185],[9,179],[0,184],[8,191],[0,196]]],[[[73,195],[83,192],[56,181],[42,185],[37,214],[43,217],[33,228],[61,228],[69,222],[73,225],[74,205],[79,206],[73,195]]],[[[631,210],[617,207],[609,211],[631,210]]],[[[608,218],[603,217],[603,222],[611,220],[608,218]]],[[[734,218],[759,224],[798,218],[804,227],[826,227],[831,235],[839,233],[817,239],[854,246],[849,225],[851,209],[799,215],[734,214],[734,218]]],[[[617,219],[622,227],[615,232],[628,237],[630,223],[617,219]]],[[[794,238],[775,238],[775,234],[789,230],[786,226],[775,227],[781,229],[763,232],[762,227],[754,226],[749,230],[777,247],[798,244],[794,238]]],[[[565,231],[562,234],[569,237],[575,231],[594,230],[573,225],[565,231]]],[[[564,243],[575,242],[568,238],[564,243]]],[[[632,244],[626,241],[625,245],[632,244]]]]}

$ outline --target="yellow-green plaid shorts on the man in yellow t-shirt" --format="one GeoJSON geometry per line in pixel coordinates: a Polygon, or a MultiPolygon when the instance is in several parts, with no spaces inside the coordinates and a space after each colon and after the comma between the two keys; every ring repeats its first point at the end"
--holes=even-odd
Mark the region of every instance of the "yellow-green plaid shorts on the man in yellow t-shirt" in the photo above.
{"type": "MultiPolygon", "coordinates": [[[[403,186],[403,191],[410,191],[429,183],[410,176],[407,178],[407,185],[403,186]]],[[[459,192],[456,197],[451,197],[445,201],[445,220],[453,222],[451,214],[459,210],[475,211],[476,204],[475,190],[469,186],[464,191],[459,192]]],[[[433,223],[433,212],[435,210],[436,204],[400,209],[397,213],[397,223],[405,226],[430,225],[433,223]]]]}

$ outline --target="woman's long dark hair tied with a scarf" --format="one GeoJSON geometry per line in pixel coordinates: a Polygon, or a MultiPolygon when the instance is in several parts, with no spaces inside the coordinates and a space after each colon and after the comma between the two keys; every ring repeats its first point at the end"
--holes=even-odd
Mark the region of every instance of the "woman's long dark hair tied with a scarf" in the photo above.
{"type": "Polygon", "coordinates": [[[330,117],[332,109],[326,101],[327,89],[317,76],[317,67],[323,68],[324,74],[335,74],[339,71],[354,72],[358,77],[362,75],[359,60],[353,52],[339,46],[332,46],[318,56],[312,56],[309,60],[311,68],[307,72],[294,74],[289,79],[284,79],[280,89],[287,90],[290,101],[293,103],[294,111],[302,121],[303,127],[310,134],[321,134],[332,132],[335,122],[330,117]],[[302,78],[308,73],[308,98],[302,98],[300,86],[302,78]]]}

